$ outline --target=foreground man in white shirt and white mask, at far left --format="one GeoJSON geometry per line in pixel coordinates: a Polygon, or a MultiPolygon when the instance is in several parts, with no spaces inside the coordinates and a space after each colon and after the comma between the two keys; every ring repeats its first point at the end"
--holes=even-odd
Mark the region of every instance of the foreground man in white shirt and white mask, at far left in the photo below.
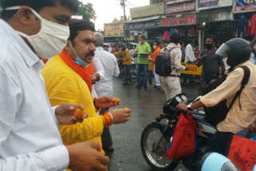
{"type": "Polygon", "coordinates": [[[0,170],[106,170],[109,159],[97,143],[62,145],[57,123],[82,121],[74,109],[83,106],[51,108],[40,72],[41,58],[66,45],[77,0],[1,2],[0,170]]]}

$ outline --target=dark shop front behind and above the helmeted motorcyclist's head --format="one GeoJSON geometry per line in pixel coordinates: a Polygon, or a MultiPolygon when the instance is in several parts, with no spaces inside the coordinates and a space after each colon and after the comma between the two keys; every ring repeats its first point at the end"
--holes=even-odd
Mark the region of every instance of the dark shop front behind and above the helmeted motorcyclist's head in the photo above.
{"type": "Polygon", "coordinates": [[[233,0],[198,0],[197,27],[199,49],[204,48],[205,38],[214,36],[217,46],[236,37],[233,0]]]}

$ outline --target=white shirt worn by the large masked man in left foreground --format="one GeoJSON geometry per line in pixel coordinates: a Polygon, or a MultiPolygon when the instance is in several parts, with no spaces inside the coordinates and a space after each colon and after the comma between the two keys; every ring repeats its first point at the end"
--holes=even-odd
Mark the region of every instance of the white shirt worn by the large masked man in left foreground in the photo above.
{"type": "Polygon", "coordinates": [[[63,170],[69,154],[40,70],[42,61],[0,20],[0,170],[63,170]]]}

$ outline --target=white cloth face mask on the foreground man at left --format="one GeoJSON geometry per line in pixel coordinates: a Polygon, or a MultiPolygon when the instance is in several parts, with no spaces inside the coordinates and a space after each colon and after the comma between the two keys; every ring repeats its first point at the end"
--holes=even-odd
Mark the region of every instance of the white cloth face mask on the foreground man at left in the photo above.
{"type": "MultiPolygon", "coordinates": [[[[20,6],[13,6],[5,10],[18,10],[19,8],[20,6]]],[[[30,42],[39,58],[48,59],[60,54],[67,44],[67,39],[70,37],[69,26],[62,26],[56,22],[50,22],[42,18],[33,9],[30,8],[30,10],[41,20],[41,30],[38,34],[32,36],[17,31],[18,34],[30,42]]]]}

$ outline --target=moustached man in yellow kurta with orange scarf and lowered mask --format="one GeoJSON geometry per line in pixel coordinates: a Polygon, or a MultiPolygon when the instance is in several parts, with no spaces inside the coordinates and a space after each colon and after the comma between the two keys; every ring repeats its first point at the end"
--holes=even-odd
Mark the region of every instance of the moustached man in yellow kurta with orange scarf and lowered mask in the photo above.
{"type": "Polygon", "coordinates": [[[114,109],[110,113],[96,115],[97,108],[108,108],[117,104],[114,103],[114,97],[92,99],[90,95],[90,74],[86,67],[94,58],[94,51],[94,24],[73,19],[70,22],[69,43],[42,70],[51,105],[82,104],[85,106],[84,111],[88,113],[82,123],[58,127],[64,145],[81,141],[101,144],[104,126],[130,120],[130,109],[114,109]]]}

